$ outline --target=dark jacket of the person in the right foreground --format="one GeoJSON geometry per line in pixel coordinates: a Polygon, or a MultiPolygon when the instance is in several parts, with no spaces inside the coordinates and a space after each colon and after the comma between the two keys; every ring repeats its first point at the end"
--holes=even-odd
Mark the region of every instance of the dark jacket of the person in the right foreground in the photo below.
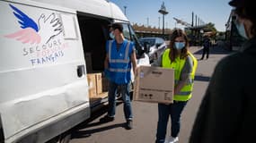
{"type": "Polygon", "coordinates": [[[190,143],[255,142],[256,38],[217,65],[199,108],[190,143]]]}

